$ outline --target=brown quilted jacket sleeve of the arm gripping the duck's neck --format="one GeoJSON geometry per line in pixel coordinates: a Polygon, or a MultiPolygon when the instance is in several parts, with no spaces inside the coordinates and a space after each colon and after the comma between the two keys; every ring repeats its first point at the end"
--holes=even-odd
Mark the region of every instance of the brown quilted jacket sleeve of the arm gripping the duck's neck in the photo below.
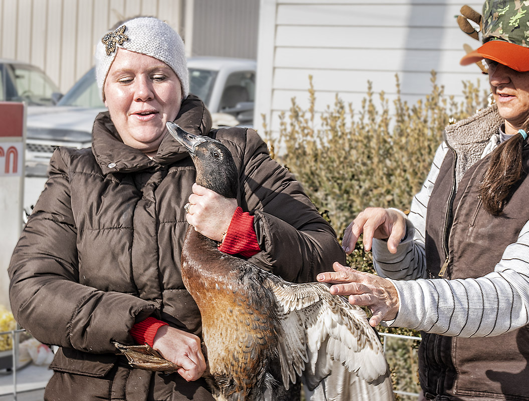
{"type": "Polygon", "coordinates": [[[241,152],[242,208],[255,216],[261,248],[249,260],[294,282],[314,281],[333,262],[344,263],[334,230],[293,174],[270,158],[256,131],[245,131],[241,152]]]}

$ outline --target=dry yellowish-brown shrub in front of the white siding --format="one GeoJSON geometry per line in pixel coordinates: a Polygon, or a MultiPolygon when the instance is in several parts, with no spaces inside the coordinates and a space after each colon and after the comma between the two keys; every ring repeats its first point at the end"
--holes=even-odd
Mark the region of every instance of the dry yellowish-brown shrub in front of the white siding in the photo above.
{"type": "MultiPolygon", "coordinates": [[[[314,108],[316,95],[309,77],[308,109],[302,110],[293,98],[288,115],[280,116],[278,138],[272,138],[266,122],[263,123],[271,153],[276,149],[285,150],[275,158],[303,184],[340,240],[345,227],[368,206],[406,211],[430,170],[435,150],[443,140],[444,127],[489,105],[489,91],[480,89],[479,80],[476,84],[462,83],[463,99],[456,102],[453,96],[444,95],[435,77],[432,72],[432,92],[409,105],[400,97],[396,76],[393,114],[384,92],[376,96],[368,82],[367,96],[358,111],[336,95],[334,104],[318,116],[318,123],[314,108]]],[[[364,251],[361,241],[348,263],[362,271],[373,271],[371,252],[364,251]]],[[[378,329],[419,335],[406,329],[380,326],[378,329]]],[[[409,342],[388,340],[386,357],[395,388],[415,393],[418,391],[418,342],[409,342]]],[[[407,396],[399,398],[408,399],[407,396]]]]}

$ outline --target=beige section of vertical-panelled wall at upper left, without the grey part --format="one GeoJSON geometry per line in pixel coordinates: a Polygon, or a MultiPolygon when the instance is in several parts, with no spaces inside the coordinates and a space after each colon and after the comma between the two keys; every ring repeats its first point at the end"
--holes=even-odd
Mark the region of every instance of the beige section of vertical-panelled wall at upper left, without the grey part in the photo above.
{"type": "Polygon", "coordinates": [[[180,31],[183,0],[0,0],[0,57],[42,68],[66,92],[116,22],[152,15],[180,31]]]}

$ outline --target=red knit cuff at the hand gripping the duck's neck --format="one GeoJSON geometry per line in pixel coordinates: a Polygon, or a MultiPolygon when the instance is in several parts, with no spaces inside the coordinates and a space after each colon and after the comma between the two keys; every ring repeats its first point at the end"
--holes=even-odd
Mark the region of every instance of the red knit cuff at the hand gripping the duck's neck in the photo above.
{"type": "Polygon", "coordinates": [[[256,230],[253,228],[253,216],[250,213],[243,212],[240,207],[235,209],[224,241],[219,245],[218,250],[230,255],[240,254],[244,258],[261,251],[256,230]]]}

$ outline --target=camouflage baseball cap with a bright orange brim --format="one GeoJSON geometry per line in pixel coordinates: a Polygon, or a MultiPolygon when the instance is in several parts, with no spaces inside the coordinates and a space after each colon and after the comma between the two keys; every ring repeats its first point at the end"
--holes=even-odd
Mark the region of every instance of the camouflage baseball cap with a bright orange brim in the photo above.
{"type": "Polygon", "coordinates": [[[464,56],[469,65],[482,59],[529,71],[529,1],[487,0],[483,5],[483,45],[464,56]]]}

